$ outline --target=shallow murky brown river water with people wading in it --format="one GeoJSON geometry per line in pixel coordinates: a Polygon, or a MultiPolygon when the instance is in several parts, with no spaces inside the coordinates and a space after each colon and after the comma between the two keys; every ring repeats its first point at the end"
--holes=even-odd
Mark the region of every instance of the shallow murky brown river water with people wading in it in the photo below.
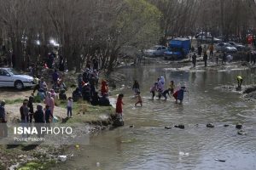
{"type": "Polygon", "coordinates": [[[255,70],[177,70],[175,65],[148,65],[120,70],[126,78],[125,126],[93,134],[90,144],[80,146],[78,156],[64,162],[61,169],[256,169],[256,107],[241,94],[219,87],[236,85],[236,75],[244,85],[252,84],[255,70]],[[149,88],[158,77],[186,86],[183,105],[174,99],[150,99],[149,88]],[[131,85],[141,86],[143,107],[134,107],[131,85]],[[214,128],[207,128],[211,122],[214,128]],[[241,122],[247,135],[238,135],[241,122]],[[173,127],[184,124],[184,129],[173,127]],[[224,127],[229,124],[229,127],[224,127]],[[134,125],[134,127],[129,127],[134,125]],[[172,129],[165,129],[172,126],[172,129]],[[215,159],[224,160],[216,161],[215,159]]]}

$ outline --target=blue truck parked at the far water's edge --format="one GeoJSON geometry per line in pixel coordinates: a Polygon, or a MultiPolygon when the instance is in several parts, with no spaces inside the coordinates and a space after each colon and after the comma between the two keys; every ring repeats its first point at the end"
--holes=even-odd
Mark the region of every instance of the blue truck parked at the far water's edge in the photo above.
{"type": "Polygon", "coordinates": [[[174,38],[168,45],[165,59],[184,59],[189,54],[191,42],[189,38],[174,38]]]}

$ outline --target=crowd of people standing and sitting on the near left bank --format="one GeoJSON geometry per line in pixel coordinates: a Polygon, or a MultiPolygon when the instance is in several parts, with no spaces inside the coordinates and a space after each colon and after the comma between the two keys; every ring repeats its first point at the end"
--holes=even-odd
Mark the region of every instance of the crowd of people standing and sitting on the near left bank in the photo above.
{"type": "MultiPolygon", "coordinates": [[[[36,76],[34,82],[36,86],[33,88],[32,95],[28,99],[24,99],[20,106],[20,122],[21,123],[49,123],[53,122],[55,117],[55,102],[58,99],[67,100],[67,117],[73,117],[73,102],[83,99],[91,105],[109,106],[108,99],[108,82],[102,80],[99,84],[99,68],[98,60],[91,59],[87,62],[86,68],[78,78],[78,88],[75,88],[72,96],[67,98],[67,86],[64,82],[65,62],[61,55],[59,65],[56,65],[55,53],[50,53],[44,63],[44,69],[53,71],[51,80],[40,74],[32,74],[36,76]],[[99,90],[98,86],[100,86],[99,90]],[[51,87],[51,88],[49,88],[51,87]],[[37,93],[37,94],[36,94],[37,93]],[[37,101],[36,111],[34,111],[34,101],[37,101]],[[38,101],[39,100],[39,101],[38,101]]],[[[39,71],[40,72],[40,71],[39,71]]],[[[0,122],[7,122],[5,101],[0,105],[0,122]]]]}

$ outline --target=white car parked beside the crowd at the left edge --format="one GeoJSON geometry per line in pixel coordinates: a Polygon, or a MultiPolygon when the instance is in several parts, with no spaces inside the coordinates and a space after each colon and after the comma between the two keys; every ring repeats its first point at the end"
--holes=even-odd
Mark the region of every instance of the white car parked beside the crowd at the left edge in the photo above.
{"type": "Polygon", "coordinates": [[[0,87],[15,87],[20,90],[35,85],[33,77],[20,75],[11,68],[0,68],[0,87]]]}

